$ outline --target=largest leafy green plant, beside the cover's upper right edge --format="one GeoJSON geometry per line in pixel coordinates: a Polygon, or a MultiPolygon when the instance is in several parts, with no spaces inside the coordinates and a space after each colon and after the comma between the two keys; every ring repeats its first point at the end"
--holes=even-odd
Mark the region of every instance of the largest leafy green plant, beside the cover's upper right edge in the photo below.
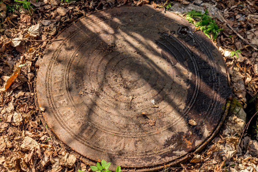
{"type": "Polygon", "coordinates": [[[218,25],[216,24],[215,20],[212,19],[208,15],[208,10],[205,10],[205,13],[202,14],[202,12],[192,10],[190,12],[187,12],[186,14],[186,20],[188,20],[190,23],[194,24],[195,27],[202,30],[203,33],[205,33],[208,38],[211,38],[209,34],[213,35],[213,40],[217,39],[218,33],[222,31],[223,29],[219,29],[218,25]],[[200,21],[194,23],[194,19],[199,19],[200,21]]]}

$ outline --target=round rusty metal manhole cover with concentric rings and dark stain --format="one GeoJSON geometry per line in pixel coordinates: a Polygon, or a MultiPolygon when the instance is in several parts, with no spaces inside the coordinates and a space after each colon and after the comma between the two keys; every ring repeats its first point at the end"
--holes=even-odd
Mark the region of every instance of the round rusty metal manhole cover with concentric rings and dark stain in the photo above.
{"type": "Polygon", "coordinates": [[[221,125],[231,90],[222,55],[194,30],[150,5],[71,25],[37,62],[48,126],[111,170],[158,169],[200,149],[221,125]]]}

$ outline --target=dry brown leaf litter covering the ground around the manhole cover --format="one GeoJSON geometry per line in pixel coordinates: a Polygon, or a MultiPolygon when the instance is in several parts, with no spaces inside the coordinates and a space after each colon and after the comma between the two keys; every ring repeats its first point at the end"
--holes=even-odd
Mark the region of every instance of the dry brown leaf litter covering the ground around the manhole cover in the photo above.
{"type": "MultiPolygon", "coordinates": [[[[59,31],[85,14],[114,6],[144,4],[154,5],[156,8],[174,12],[185,18],[189,16],[183,12],[194,9],[204,13],[207,9],[209,16],[214,20],[207,24],[216,23],[219,29],[223,29],[216,33],[217,38],[214,41],[228,66],[230,86],[233,88],[235,98],[221,130],[205,150],[199,154],[192,154],[192,159],[181,164],[181,167],[167,166],[164,170],[258,172],[257,117],[246,127],[246,121],[251,120],[258,105],[256,1],[31,0],[28,2],[0,1],[2,19],[0,172],[90,171],[85,159],[63,145],[44,122],[41,113],[44,109],[39,108],[34,99],[36,94],[34,79],[37,72],[35,62],[43,55],[59,31]],[[245,108],[247,116],[242,107],[245,108]]],[[[199,21],[193,19],[192,22],[199,21]]],[[[207,32],[207,35],[209,34],[207,32]]],[[[209,36],[214,38],[214,35],[209,36]]]]}

